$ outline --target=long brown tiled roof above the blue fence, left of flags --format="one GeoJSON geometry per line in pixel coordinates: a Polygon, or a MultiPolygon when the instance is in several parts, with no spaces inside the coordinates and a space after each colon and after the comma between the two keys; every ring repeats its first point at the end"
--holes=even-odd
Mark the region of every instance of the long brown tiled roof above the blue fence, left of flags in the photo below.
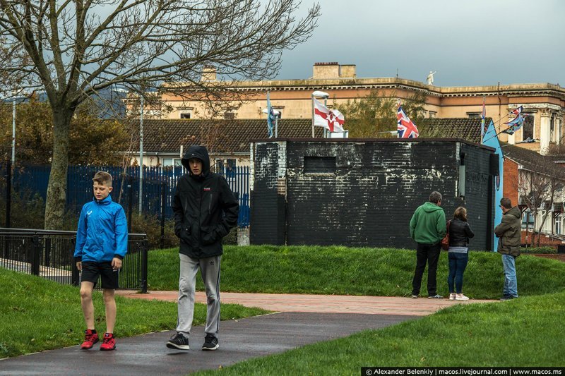
{"type": "MultiPolygon", "coordinates": [[[[139,130],[139,122],[133,126],[139,130]]],[[[316,127],[316,137],[323,129],[316,127]]],[[[279,119],[279,138],[311,138],[311,119],[279,119]]],[[[267,138],[266,119],[145,119],[145,152],[179,152],[180,146],[208,145],[210,152],[249,153],[249,142],[267,138]]]]}

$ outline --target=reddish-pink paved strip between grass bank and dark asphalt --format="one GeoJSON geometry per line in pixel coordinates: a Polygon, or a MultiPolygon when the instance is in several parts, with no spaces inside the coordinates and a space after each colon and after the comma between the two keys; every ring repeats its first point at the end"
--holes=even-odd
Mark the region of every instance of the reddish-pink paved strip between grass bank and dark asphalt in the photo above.
{"type": "MultiPolygon", "coordinates": [[[[177,301],[177,291],[117,291],[130,298],[177,301]]],[[[275,312],[309,313],[363,313],[369,315],[424,316],[454,304],[489,301],[449,301],[448,299],[403,298],[398,296],[350,296],[350,295],[300,295],[293,293],[225,293],[220,292],[222,303],[237,303],[275,312]]],[[[206,303],[206,293],[196,292],[196,301],[206,303]]]]}

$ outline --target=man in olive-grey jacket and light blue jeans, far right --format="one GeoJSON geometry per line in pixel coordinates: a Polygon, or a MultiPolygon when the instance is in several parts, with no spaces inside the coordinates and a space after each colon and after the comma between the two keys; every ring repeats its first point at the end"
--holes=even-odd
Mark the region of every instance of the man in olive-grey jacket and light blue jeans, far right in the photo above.
{"type": "Polygon", "coordinates": [[[520,255],[522,232],[522,212],[518,207],[512,207],[509,198],[500,199],[502,221],[494,228],[494,234],[499,238],[498,252],[502,256],[504,267],[504,289],[501,301],[511,301],[518,298],[518,281],[516,279],[516,257],[520,255]]]}

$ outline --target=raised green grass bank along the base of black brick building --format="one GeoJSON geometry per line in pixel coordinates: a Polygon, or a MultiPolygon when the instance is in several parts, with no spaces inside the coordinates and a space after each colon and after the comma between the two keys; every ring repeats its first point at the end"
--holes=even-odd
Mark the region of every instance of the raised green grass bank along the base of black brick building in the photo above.
{"type": "MultiPolygon", "coordinates": [[[[416,265],[415,250],[271,245],[225,246],[222,291],[244,293],[315,293],[408,296],[416,265]]],[[[152,250],[148,260],[150,290],[177,290],[178,248],[152,250]],[[173,272],[176,271],[176,272],[173,272]]],[[[518,293],[533,296],[565,290],[565,263],[532,255],[516,259],[518,293]]],[[[439,260],[438,293],[446,295],[448,260],[439,260]]],[[[202,290],[198,277],[197,289],[202,290]]],[[[465,270],[465,295],[499,298],[504,274],[497,253],[472,252],[465,270]]],[[[424,273],[422,293],[426,293],[424,273]]]]}

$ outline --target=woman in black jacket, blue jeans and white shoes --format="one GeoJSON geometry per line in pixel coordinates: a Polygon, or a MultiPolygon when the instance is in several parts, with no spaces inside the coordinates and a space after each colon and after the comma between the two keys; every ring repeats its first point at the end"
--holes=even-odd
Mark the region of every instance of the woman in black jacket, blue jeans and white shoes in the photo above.
{"type": "Polygon", "coordinates": [[[475,236],[469,222],[467,222],[467,210],[458,207],[453,213],[453,219],[448,222],[449,229],[449,275],[447,284],[449,286],[450,301],[468,301],[463,295],[463,272],[469,261],[469,238],[475,236]],[[457,292],[456,292],[457,291],[457,292]]]}

